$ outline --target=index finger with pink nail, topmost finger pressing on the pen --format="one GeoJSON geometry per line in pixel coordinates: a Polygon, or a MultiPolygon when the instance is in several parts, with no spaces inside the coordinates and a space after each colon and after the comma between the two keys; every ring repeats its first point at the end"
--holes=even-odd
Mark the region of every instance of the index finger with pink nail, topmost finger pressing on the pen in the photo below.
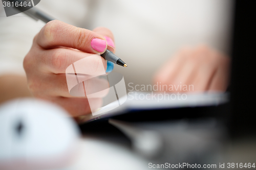
{"type": "Polygon", "coordinates": [[[35,42],[45,49],[66,46],[92,54],[102,54],[107,48],[102,35],[59,20],[48,22],[36,36],[35,42]]]}

